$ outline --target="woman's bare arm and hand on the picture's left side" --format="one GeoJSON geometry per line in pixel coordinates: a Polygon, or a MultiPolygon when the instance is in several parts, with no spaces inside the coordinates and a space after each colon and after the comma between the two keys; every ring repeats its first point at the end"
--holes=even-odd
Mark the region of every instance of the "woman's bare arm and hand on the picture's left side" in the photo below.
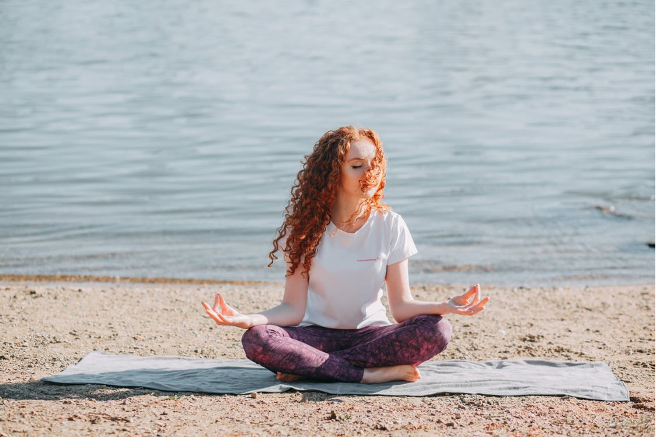
{"type": "MultiPolygon", "coordinates": [[[[287,257],[286,257],[287,260],[287,257]]],[[[289,261],[287,261],[289,268],[289,261]]],[[[242,314],[227,305],[220,294],[216,295],[214,307],[205,302],[205,312],[219,325],[236,326],[248,329],[257,325],[295,326],[305,316],[307,304],[308,279],[302,273],[303,264],[299,264],[293,275],[285,277],[284,296],[280,305],[255,314],[242,314]]]]}

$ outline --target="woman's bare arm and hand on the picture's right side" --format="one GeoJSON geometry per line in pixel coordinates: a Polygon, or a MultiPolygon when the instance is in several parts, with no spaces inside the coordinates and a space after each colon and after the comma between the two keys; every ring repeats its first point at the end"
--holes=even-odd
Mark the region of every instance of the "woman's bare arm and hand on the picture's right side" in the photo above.
{"type": "Polygon", "coordinates": [[[392,317],[401,323],[417,314],[462,314],[472,316],[481,312],[489,298],[480,300],[480,286],[476,284],[469,291],[447,302],[425,302],[415,300],[410,292],[408,259],[387,266],[385,276],[387,296],[392,317]],[[469,299],[473,298],[472,302],[469,299]]]}

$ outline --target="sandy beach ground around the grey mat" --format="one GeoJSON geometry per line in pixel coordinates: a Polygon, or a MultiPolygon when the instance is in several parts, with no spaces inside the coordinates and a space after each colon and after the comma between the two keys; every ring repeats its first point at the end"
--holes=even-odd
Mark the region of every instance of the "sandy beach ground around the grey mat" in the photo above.
{"type": "MultiPolygon", "coordinates": [[[[241,311],[258,312],[280,302],[282,284],[34,279],[0,278],[0,436],[653,436],[655,429],[654,284],[484,286],[492,298],[485,312],[449,318],[454,337],[434,360],[603,361],[631,400],[602,402],[293,391],[252,397],[42,383],[94,350],[243,359],[243,330],[213,323],[200,301],[220,292],[241,311]]],[[[464,289],[422,286],[413,294],[444,300],[464,289]]]]}

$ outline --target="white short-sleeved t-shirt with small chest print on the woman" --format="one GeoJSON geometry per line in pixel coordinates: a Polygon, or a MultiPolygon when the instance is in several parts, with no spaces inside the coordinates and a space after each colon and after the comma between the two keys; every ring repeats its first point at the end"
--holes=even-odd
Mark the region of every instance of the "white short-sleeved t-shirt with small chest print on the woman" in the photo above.
{"type": "Polygon", "coordinates": [[[372,210],[355,233],[330,222],[312,259],[305,316],[297,326],[391,325],[381,302],[387,266],[416,253],[406,223],[393,211],[372,210]]]}

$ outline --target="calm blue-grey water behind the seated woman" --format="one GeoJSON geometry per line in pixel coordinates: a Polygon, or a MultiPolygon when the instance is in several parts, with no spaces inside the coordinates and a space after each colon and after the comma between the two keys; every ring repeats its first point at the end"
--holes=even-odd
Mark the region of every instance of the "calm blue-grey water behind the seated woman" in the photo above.
{"type": "Polygon", "coordinates": [[[655,6],[591,0],[3,1],[0,274],[282,281],[300,160],[351,123],[411,282],[655,280],[655,6]]]}

